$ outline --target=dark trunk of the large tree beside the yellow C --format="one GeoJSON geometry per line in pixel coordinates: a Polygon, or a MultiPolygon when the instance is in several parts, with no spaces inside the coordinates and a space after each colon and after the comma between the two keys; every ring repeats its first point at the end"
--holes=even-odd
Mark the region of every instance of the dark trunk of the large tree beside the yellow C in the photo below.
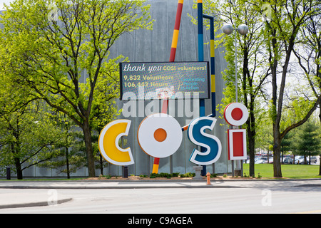
{"type": "Polygon", "coordinates": [[[86,153],[87,153],[87,165],[88,176],[95,177],[95,164],[93,158],[93,145],[91,144],[91,129],[89,127],[88,120],[83,123],[83,137],[85,139],[86,153]]]}

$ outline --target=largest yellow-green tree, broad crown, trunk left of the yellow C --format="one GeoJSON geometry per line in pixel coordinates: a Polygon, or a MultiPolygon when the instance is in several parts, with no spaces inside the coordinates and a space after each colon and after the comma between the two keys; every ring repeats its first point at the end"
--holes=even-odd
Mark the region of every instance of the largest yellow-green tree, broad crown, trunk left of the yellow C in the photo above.
{"type": "Polygon", "coordinates": [[[123,33],[151,28],[149,6],[143,0],[16,0],[10,6],[2,16],[2,63],[17,86],[81,128],[88,175],[94,177],[95,110],[118,97],[121,56],[108,60],[109,49],[123,33]],[[102,87],[103,95],[97,90],[102,87]]]}

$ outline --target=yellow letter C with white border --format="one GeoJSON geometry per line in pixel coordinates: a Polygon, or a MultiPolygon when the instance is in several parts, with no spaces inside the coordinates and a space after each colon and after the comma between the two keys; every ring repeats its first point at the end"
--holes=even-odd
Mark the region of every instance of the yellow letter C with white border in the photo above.
{"type": "Polygon", "coordinates": [[[123,149],[118,145],[118,140],[123,135],[128,135],[130,127],[131,120],[114,120],[101,130],[98,148],[106,161],[114,165],[132,165],[134,163],[131,148],[123,149]]]}

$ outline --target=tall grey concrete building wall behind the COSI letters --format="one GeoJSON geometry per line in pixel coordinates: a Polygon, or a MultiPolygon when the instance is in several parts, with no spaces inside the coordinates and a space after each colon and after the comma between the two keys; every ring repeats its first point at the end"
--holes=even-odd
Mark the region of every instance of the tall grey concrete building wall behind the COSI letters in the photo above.
{"type": "MultiPolygon", "coordinates": [[[[178,1],[174,0],[153,0],[148,1],[147,4],[151,4],[151,18],[154,21],[153,30],[138,30],[131,33],[126,33],[116,41],[111,48],[110,58],[114,58],[119,55],[128,57],[131,62],[163,62],[168,61],[170,56],[170,46],[173,36],[173,28],[175,23],[175,14],[178,1]]],[[[180,33],[178,37],[178,46],[175,56],[175,61],[198,61],[198,31],[197,25],[194,25],[190,21],[188,14],[194,18],[197,17],[197,10],[193,9],[193,1],[185,1],[183,4],[183,12],[180,23],[180,33]]],[[[124,25],[126,26],[126,25],[124,25]]],[[[205,31],[204,28],[204,43],[209,43],[210,33],[205,31]]],[[[224,82],[222,80],[221,72],[227,67],[227,63],[224,60],[223,48],[217,48],[215,50],[215,83],[216,83],[216,104],[219,104],[223,98],[224,82]]],[[[204,46],[204,61],[210,61],[210,46],[204,46]]],[[[86,74],[80,80],[85,80],[86,74]]],[[[127,102],[127,101],[126,101],[127,102]]],[[[126,103],[121,100],[117,100],[118,108],[123,108],[123,104],[126,103]]],[[[131,119],[131,129],[128,134],[128,144],[126,147],[131,147],[133,152],[133,158],[135,160],[134,165],[128,166],[128,175],[149,175],[153,169],[153,157],[146,155],[138,145],[137,141],[137,129],[143,118],[146,117],[144,110],[146,105],[151,101],[137,101],[136,102],[136,117],[125,117],[122,115],[119,118],[131,119]]],[[[158,103],[159,110],[161,111],[161,102],[158,103]]],[[[192,118],[196,118],[195,113],[198,113],[198,105],[195,105],[198,100],[171,100],[168,105],[168,113],[173,115],[181,126],[188,124],[192,118]],[[183,102],[183,117],[178,116],[178,108],[182,108],[181,102],[183,102]],[[194,108],[195,107],[195,108],[194,108]],[[175,110],[175,112],[174,112],[175,110]],[[190,110],[193,115],[188,114],[185,110],[190,110]],[[175,114],[174,114],[175,113],[175,114]]],[[[205,100],[205,115],[211,113],[211,100],[205,100]]],[[[222,154],[220,159],[215,162],[215,170],[213,165],[207,166],[208,172],[225,173],[231,172],[231,165],[228,161],[227,151],[227,134],[226,127],[224,125],[225,120],[219,118],[217,112],[216,118],[218,119],[213,134],[216,135],[222,143],[222,154]]],[[[107,124],[107,123],[106,123],[107,124]]],[[[158,172],[194,172],[193,164],[189,161],[189,157],[195,145],[193,145],[187,137],[186,132],[183,132],[183,141],[180,148],[171,157],[162,158],[160,160],[158,172]]],[[[108,165],[104,169],[104,175],[122,175],[122,167],[116,165],[108,165]]],[[[88,172],[84,167],[78,170],[71,176],[86,176],[88,172]]],[[[96,170],[96,175],[100,175],[100,171],[96,170]]],[[[56,170],[49,170],[40,167],[31,167],[24,171],[24,177],[58,177],[65,176],[58,174],[56,170]]]]}

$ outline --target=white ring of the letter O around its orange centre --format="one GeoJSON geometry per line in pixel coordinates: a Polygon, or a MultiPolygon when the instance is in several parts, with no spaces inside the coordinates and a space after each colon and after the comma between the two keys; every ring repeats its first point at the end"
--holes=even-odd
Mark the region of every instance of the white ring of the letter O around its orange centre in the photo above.
{"type": "Polygon", "coordinates": [[[145,118],[138,127],[138,143],[146,154],[152,157],[168,157],[180,147],[183,132],[175,118],[165,113],[156,113],[145,118]],[[158,142],[154,133],[159,128],[166,132],[166,138],[158,142]]]}

